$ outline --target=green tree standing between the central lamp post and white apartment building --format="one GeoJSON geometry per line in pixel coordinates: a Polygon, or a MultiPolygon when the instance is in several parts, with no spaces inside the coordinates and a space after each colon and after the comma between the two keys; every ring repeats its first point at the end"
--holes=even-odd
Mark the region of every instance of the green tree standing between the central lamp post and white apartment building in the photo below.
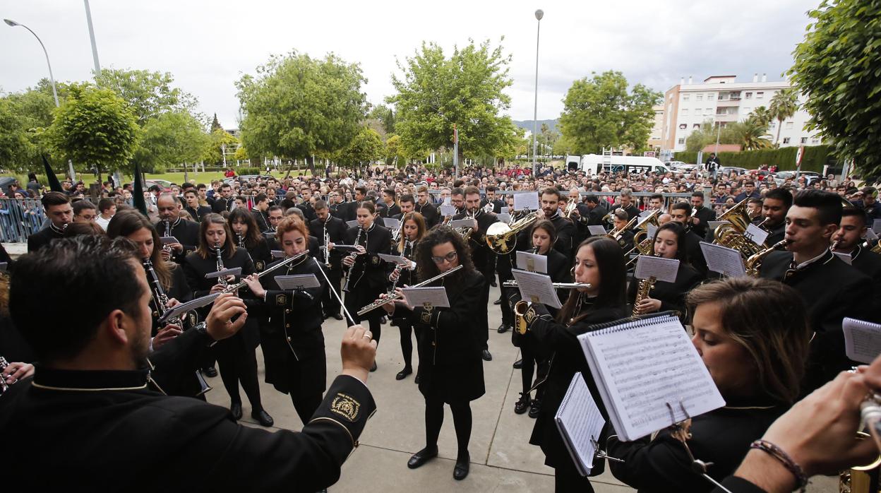
{"type": "Polygon", "coordinates": [[[652,109],[662,94],[637,84],[627,92],[619,71],[606,71],[576,80],[563,99],[559,118],[563,135],[576,153],[599,153],[603,147],[629,146],[640,151],[654,126],[652,109]]]}

